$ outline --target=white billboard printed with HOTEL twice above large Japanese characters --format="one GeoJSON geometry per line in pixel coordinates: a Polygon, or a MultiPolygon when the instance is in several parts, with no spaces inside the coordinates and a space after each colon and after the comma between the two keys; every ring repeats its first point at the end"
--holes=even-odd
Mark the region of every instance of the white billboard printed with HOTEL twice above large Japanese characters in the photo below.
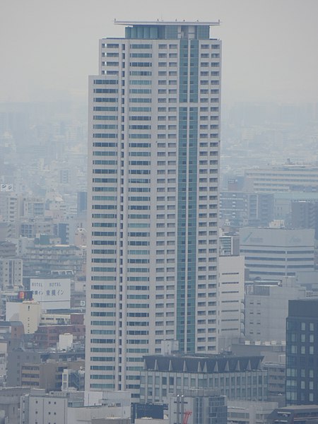
{"type": "Polygon", "coordinates": [[[71,278],[30,278],[30,290],[43,310],[71,307],[71,278]]]}

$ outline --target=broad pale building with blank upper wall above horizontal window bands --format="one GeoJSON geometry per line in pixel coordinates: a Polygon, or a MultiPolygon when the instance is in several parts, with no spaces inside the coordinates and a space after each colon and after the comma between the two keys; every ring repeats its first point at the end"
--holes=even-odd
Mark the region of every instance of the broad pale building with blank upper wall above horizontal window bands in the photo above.
{"type": "Polygon", "coordinates": [[[314,271],[314,230],[241,228],[240,254],[251,279],[275,280],[314,271]]]}

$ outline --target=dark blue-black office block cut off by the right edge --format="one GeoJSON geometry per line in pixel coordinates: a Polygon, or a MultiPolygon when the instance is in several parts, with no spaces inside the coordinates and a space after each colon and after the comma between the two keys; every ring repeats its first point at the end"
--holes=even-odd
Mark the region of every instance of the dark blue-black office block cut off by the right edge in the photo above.
{"type": "Polygon", "coordinates": [[[286,320],[286,405],[318,404],[318,298],[290,300],[286,320]]]}

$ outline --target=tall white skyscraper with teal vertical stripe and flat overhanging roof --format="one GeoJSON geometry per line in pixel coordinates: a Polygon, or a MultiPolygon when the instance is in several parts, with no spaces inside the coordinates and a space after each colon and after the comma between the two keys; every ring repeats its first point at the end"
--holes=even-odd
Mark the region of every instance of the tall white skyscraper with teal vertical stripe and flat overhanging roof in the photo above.
{"type": "Polygon", "coordinates": [[[138,397],[143,355],[217,350],[221,43],[115,23],[89,83],[86,389],[138,397]]]}

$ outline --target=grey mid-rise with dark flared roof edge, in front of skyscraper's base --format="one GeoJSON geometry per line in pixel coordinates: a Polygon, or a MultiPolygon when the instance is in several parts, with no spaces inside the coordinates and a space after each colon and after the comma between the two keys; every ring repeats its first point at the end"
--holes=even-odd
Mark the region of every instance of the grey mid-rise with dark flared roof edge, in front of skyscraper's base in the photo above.
{"type": "Polygon", "coordinates": [[[228,399],[267,400],[267,371],[262,356],[149,355],[141,371],[143,403],[167,404],[171,396],[196,389],[214,389],[228,399]]]}

